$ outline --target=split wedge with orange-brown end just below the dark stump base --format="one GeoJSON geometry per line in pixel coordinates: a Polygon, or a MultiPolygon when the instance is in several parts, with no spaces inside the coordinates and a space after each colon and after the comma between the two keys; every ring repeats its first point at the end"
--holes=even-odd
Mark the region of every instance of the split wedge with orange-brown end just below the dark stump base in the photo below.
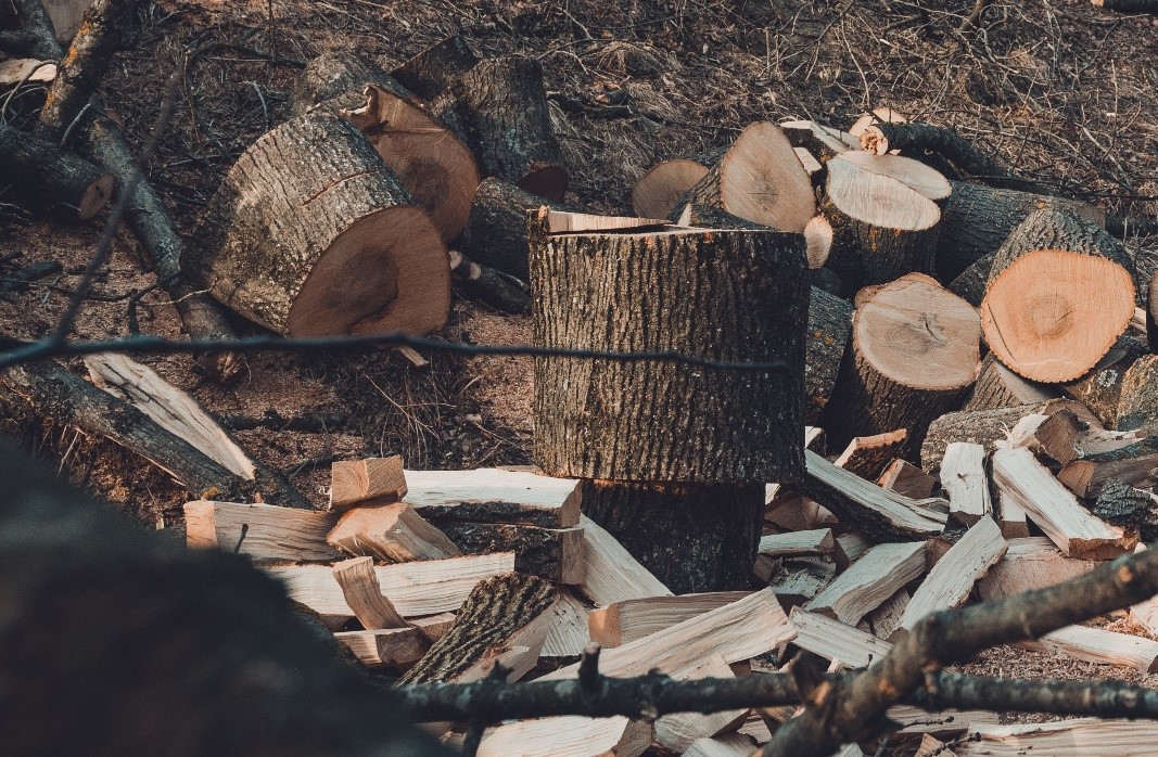
{"type": "Polygon", "coordinates": [[[749,594],[750,591],[708,591],[614,602],[606,608],[592,610],[587,616],[591,640],[604,647],[620,647],[738,602],[749,594]]]}

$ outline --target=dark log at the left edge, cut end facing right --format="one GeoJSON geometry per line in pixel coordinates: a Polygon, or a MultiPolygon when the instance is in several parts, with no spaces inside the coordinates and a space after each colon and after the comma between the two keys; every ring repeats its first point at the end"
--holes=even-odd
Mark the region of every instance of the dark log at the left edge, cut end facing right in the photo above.
{"type": "Polygon", "coordinates": [[[52,142],[0,124],[0,172],[29,210],[88,221],[112,199],[117,179],[52,142]]]}

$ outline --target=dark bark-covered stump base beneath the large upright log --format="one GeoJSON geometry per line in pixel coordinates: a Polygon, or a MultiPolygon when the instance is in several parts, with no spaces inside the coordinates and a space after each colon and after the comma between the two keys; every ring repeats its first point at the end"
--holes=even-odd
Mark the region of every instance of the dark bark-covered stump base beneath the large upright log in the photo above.
{"type": "Polygon", "coordinates": [[[752,588],[763,484],[585,480],[582,508],[676,594],[752,588]]]}

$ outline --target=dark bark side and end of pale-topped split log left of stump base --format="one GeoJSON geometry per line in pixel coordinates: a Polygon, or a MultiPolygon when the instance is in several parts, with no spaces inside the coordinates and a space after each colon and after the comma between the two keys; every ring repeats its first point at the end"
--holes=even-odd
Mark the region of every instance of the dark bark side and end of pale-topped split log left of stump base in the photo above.
{"type": "Polygon", "coordinates": [[[584,582],[581,528],[513,523],[445,523],[442,530],[467,554],[514,552],[514,569],[557,583],[584,582]]]}

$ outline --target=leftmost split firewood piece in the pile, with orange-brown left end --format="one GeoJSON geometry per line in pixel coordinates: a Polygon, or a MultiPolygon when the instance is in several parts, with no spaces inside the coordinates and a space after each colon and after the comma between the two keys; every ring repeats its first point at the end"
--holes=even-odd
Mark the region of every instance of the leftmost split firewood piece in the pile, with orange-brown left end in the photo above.
{"type": "Polygon", "coordinates": [[[331,513],[273,505],[197,500],[185,504],[185,543],[248,554],[255,560],[324,561],[342,558],[325,543],[331,513]]]}

